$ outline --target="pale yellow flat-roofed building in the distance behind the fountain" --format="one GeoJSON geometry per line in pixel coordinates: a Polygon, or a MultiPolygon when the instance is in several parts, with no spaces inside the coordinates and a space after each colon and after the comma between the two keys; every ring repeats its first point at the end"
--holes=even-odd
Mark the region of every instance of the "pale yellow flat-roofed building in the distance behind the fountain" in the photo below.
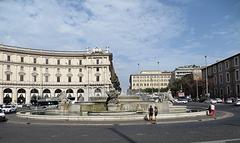
{"type": "Polygon", "coordinates": [[[139,92],[147,88],[161,89],[166,88],[171,78],[171,72],[161,72],[158,70],[145,70],[139,74],[130,75],[131,91],[139,92]]]}

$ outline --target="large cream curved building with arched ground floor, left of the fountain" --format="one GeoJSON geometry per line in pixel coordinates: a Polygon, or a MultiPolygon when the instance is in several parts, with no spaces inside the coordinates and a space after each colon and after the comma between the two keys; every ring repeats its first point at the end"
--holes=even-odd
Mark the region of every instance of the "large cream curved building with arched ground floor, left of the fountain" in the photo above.
{"type": "Polygon", "coordinates": [[[0,44],[0,104],[26,103],[66,92],[75,101],[120,89],[108,49],[53,51],[0,44]]]}

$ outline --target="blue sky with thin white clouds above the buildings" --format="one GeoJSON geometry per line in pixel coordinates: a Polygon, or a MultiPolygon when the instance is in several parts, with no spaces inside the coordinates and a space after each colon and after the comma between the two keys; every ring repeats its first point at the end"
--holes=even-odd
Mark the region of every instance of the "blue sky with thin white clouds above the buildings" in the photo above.
{"type": "Polygon", "coordinates": [[[126,91],[130,74],[141,70],[204,66],[204,56],[213,64],[239,53],[240,1],[0,0],[0,43],[67,51],[109,46],[126,91]]]}

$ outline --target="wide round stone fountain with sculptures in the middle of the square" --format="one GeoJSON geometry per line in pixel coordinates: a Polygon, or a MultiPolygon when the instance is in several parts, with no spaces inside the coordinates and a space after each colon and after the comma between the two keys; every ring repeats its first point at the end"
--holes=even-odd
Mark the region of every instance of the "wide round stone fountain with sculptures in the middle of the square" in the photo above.
{"type": "MultiPolygon", "coordinates": [[[[171,92],[161,93],[158,96],[120,96],[120,92],[111,88],[106,92],[108,96],[94,96],[91,102],[72,104],[66,93],[61,93],[58,108],[44,111],[31,111],[28,115],[18,114],[20,117],[37,119],[64,119],[81,121],[105,120],[142,120],[148,113],[150,105],[157,106],[159,114],[186,113],[186,106],[173,106],[171,92]],[[41,114],[39,114],[41,113],[41,114]]],[[[56,100],[56,99],[54,99],[56,100]]],[[[203,114],[203,113],[201,113],[203,114]]],[[[205,114],[205,112],[204,112],[205,114]]],[[[188,116],[184,115],[184,116],[188,116]]],[[[160,116],[163,117],[163,116],[160,116]]]]}

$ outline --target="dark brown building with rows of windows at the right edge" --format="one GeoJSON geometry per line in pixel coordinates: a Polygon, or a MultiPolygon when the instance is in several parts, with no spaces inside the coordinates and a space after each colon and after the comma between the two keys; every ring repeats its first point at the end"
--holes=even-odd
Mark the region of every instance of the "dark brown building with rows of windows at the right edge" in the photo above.
{"type": "MultiPolygon", "coordinates": [[[[239,60],[240,53],[207,66],[208,93],[210,93],[210,97],[240,97],[239,60]]],[[[206,68],[202,69],[202,76],[203,80],[206,80],[206,68]]],[[[206,90],[204,90],[204,93],[206,93],[206,90]]]]}

